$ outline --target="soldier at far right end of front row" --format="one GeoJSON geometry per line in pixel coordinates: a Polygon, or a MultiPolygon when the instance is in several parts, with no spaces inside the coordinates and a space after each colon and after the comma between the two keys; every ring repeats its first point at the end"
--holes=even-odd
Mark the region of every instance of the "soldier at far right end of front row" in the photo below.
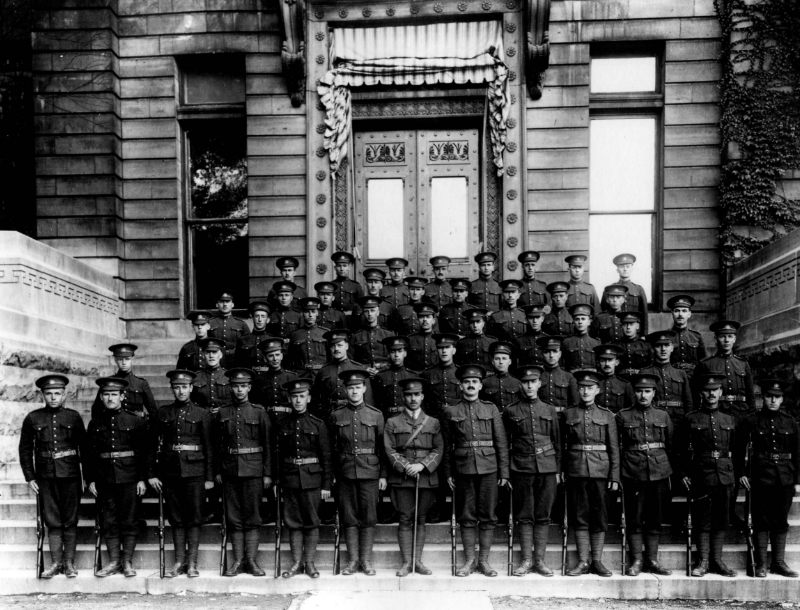
{"type": "Polygon", "coordinates": [[[742,421],[736,432],[734,465],[736,477],[752,498],[756,578],[767,577],[767,544],[772,539],[769,571],[797,578],[785,561],[786,537],[792,498],[800,493],[800,430],[797,422],[781,410],[789,382],[762,379],[761,410],[742,421]],[[750,464],[746,464],[748,445],[750,464]]]}

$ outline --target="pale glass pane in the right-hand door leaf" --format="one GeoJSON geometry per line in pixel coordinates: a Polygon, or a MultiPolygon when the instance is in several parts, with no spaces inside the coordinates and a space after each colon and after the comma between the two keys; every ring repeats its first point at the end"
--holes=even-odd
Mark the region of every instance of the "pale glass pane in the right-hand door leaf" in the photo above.
{"type": "Polygon", "coordinates": [[[431,179],[431,253],[467,257],[467,179],[431,179]]]}

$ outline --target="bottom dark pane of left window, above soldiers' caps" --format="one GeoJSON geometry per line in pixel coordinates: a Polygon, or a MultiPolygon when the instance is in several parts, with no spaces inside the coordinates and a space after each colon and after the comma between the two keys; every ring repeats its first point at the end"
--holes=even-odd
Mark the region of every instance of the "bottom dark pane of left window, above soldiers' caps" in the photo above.
{"type": "Polygon", "coordinates": [[[230,288],[237,309],[250,301],[248,226],[243,223],[192,225],[194,307],[214,309],[219,290],[230,288]]]}

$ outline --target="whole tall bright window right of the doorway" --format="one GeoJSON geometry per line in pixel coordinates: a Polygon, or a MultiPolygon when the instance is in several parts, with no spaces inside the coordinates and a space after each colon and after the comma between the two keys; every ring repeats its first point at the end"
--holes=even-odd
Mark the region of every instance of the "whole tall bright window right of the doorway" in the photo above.
{"type": "MultiPolygon", "coordinates": [[[[593,49],[589,123],[589,256],[592,282],[617,279],[612,259],[636,256],[633,281],[656,301],[660,261],[663,88],[658,53],[593,49]],[[597,52],[596,52],[597,51],[597,52]]],[[[657,301],[656,301],[657,302],[657,301]]]]}

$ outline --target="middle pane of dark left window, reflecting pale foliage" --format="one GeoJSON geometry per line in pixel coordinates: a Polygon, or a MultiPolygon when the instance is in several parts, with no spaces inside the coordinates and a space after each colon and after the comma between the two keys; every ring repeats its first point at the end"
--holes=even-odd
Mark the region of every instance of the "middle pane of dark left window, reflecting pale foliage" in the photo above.
{"type": "Polygon", "coordinates": [[[247,138],[238,121],[193,129],[190,218],[247,218],[247,138]]]}

